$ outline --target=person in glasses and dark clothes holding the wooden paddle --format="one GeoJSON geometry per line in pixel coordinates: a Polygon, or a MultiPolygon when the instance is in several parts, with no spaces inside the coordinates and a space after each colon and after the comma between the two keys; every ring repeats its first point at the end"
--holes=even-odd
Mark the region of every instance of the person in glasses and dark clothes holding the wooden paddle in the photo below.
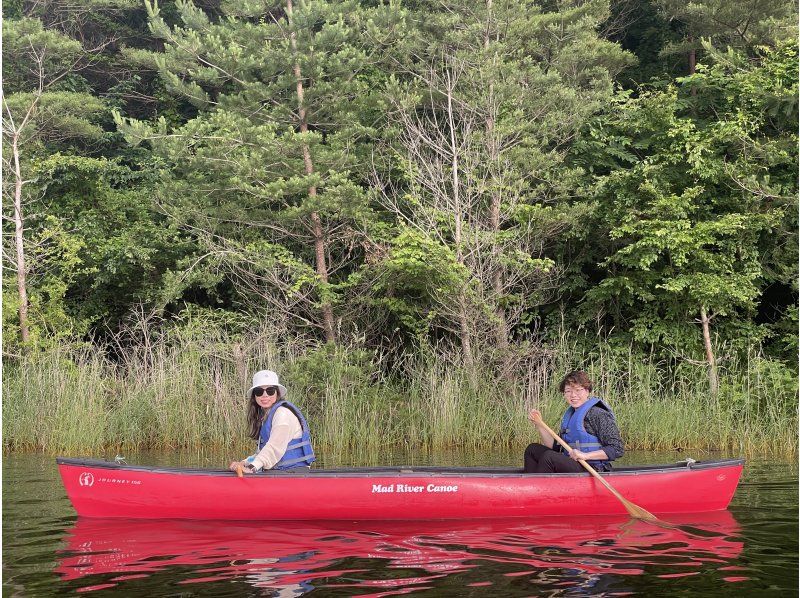
{"type": "Polygon", "coordinates": [[[525,449],[525,473],[583,472],[585,470],[578,459],[583,459],[598,471],[609,471],[611,461],[625,453],[611,409],[604,401],[592,396],[592,381],[586,372],[570,372],[558,389],[569,403],[559,436],[573,448],[569,454],[565,453],[550,432],[537,424],[541,413],[531,409],[528,419],[536,426],[542,442],[530,444],[525,449]]]}

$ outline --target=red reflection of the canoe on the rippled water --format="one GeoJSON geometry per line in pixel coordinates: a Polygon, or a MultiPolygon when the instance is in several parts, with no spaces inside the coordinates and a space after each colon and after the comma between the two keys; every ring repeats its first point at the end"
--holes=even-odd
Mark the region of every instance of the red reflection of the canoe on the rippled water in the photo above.
{"type": "Polygon", "coordinates": [[[546,578],[551,587],[575,586],[654,567],[661,577],[687,576],[709,563],[730,567],[742,550],[731,537],[739,527],[728,511],[666,519],[681,527],[625,517],[265,523],[79,518],[56,572],[63,580],[85,578],[90,585],[83,591],[189,566],[193,577],[181,583],[243,579],[289,595],[313,587],[394,595],[468,571],[473,575],[465,583],[472,586],[526,575],[546,578]],[[408,576],[374,579],[373,566],[408,570],[408,576]],[[99,575],[104,577],[94,577],[99,575]]]}

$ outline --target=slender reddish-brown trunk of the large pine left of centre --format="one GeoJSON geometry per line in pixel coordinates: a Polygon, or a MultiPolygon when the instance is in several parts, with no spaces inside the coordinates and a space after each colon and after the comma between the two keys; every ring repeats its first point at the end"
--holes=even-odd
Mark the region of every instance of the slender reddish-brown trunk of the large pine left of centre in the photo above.
{"type": "MultiPolygon", "coordinates": [[[[297,60],[297,36],[292,30],[292,0],[286,0],[286,18],[289,22],[289,41],[294,56],[293,72],[297,84],[297,115],[301,133],[308,133],[308,121],[306,120],[306,108],[303,93],[303,77],[300,71],[300,62],[297,60]]],[[[307,175],[314,174],[314,162],[311,160],[311,150],[307,143],[303,143],[303,163],[307,175]]],[[[317,196],[317,188],[312,185],[308,188],[308,196],[313,200],[317,196]]],[[[311,212],[311,232],[314,236],[314,256],[317,276],[322,284],[328,284],[328,266],[325,260],[325,235],[322,231],[322,219],[316,211],[311,212]]],[[[322,328],[325,333],[325,341],[336,342],[336,333],[333,324],[333,307],[328,301],[322,301],[322,328]]]]}

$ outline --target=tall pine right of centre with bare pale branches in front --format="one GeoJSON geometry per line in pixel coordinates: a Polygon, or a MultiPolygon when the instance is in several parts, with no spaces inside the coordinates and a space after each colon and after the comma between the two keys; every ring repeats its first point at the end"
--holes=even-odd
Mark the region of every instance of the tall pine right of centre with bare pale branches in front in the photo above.
{"type": "Polygon", "coordinates": [[[421,246],[452,256],[448,279],[460,283],[430,287],[438,318],[429,322],[458,338],[469,366],[474,339],[505,348],[552,288],[543,253],[565,227],[563,156],[630,56],[598,37],[606,2],[418,10],[427,23],[408,51],[410,81],[392,93],[402,182],[387,186],[385,203],[404,223],[401,238],[413,229],[427,238],[421,246]]]}

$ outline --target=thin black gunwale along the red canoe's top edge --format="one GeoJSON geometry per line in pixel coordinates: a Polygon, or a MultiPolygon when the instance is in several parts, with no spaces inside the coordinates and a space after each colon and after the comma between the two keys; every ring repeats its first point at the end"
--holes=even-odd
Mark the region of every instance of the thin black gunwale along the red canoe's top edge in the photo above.
{"type": "MultiPolygon", "coordinates": [[[[232,475],[227,469],[198,469],[186,467],[162,467],[148,465],[128,465],[114,461],[94,459],[76,459],[56,457],[58,465],[109,469],[115,471],[144,471],[168,475],[220,476],[232,475]]],[[[620,467],[610,472],[601,472],[603,476],[639,476],[675,473],[705,469],[719,469],[744,465],[744,459],[723,459],[717,461],[679,461],[667,465],[644,465],[638,467],[620,467]]],[[[352,467],[335,469],[303,469],[269,470],[260,472],[256,479],[270,478],[370,478],[370,477],[455,477],[455,478],[565,478],[586,477],[588,472],[581,473],[524,473],[521,468],[514,467],[437,467],[437,466],[394,466],[394,467],[352,467]]]]}

